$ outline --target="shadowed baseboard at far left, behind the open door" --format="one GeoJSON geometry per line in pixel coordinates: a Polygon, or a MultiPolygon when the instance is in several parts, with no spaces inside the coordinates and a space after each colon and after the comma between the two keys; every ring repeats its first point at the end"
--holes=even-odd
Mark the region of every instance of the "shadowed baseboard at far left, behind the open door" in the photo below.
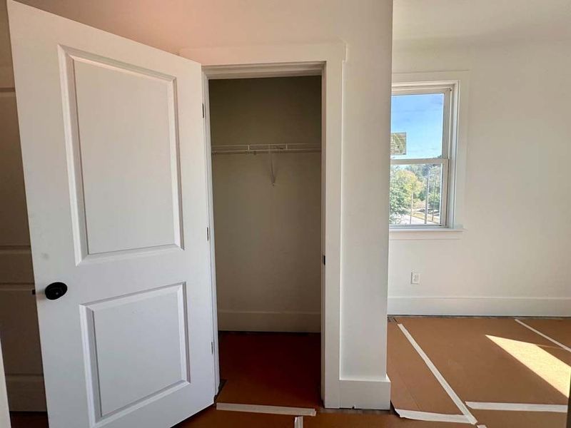
{"type": "Polygon", "coordinates": [[[37,374],[6,374],[11,412],[46,412],[44,377],[37,374]]]}

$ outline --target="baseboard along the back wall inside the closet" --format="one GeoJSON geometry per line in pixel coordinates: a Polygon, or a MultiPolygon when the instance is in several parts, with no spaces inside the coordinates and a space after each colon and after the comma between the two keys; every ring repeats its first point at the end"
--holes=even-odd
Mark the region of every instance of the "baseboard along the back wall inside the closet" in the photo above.
{"type": "Polygon", "coordinates": [[[321,330],[321,315],[319,312],[218,310],[218,330],[317,333],[321,330]]]}

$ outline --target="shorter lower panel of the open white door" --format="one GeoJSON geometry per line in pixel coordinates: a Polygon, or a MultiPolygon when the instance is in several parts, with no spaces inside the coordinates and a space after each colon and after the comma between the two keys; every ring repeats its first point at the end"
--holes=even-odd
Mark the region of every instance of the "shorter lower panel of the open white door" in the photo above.
{"type": "Polygon", "coordinates": [[[184,287],[161,287],[81,308],[96,419],[190,383],[184,287]]]}

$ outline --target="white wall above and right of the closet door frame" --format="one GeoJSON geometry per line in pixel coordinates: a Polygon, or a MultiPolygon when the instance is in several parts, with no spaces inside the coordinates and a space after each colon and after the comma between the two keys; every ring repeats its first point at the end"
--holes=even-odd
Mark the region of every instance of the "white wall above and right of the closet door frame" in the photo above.
{"type": "Polygon", "coordinates": [[[386,309],[391,0],[25,0],[159,49],[344,41],[339,379],[330,406],[388,407],[386,309]],[[363,397],[363,395],[361,395],[363,397]],[[354,401],[353,401],[354,400],[354,401]]]}

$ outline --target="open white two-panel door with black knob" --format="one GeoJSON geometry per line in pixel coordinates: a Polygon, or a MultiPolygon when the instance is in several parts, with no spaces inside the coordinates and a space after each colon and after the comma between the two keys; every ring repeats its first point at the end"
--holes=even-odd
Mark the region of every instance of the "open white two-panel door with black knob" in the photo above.
{"type": "Polygon", "coordinates": [[[8,6],[50,426],[171,427],[214,395],[201,66],[8,6]]]}

